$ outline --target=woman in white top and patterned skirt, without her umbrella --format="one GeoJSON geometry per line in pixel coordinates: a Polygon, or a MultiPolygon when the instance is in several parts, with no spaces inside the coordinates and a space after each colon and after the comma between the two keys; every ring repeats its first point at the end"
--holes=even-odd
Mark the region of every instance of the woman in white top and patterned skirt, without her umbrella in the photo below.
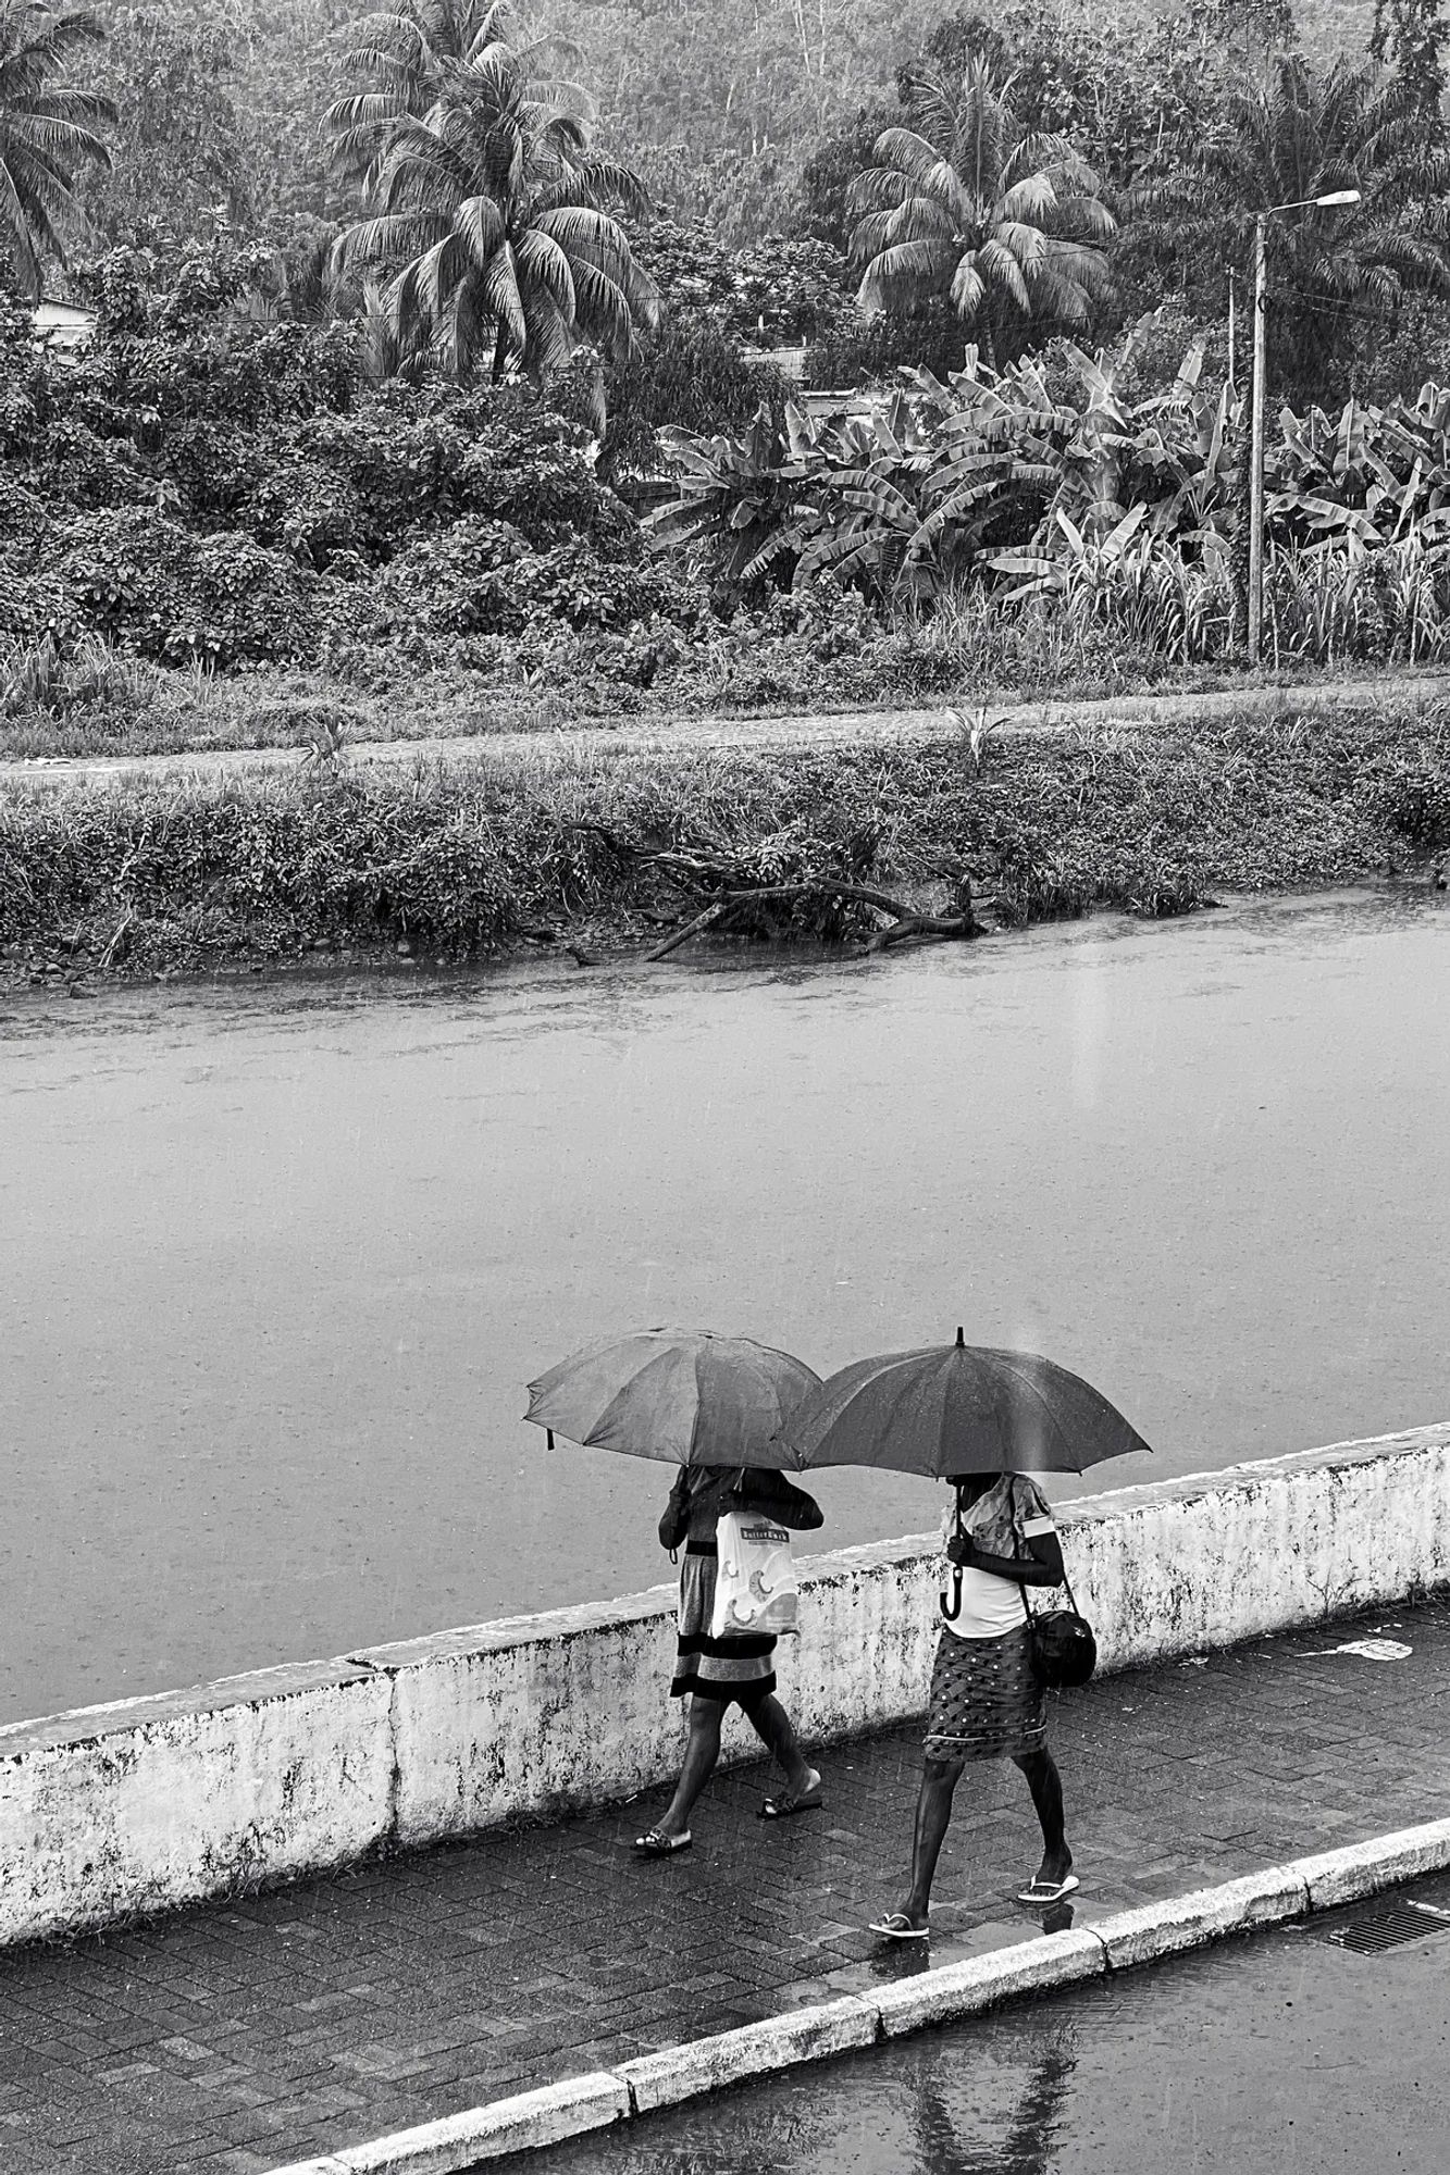
{"type": "Polygon", "coordinates": [[[1043,1686],[1032,1666],[1025,1586],[1062,1583],[1052,1509],[1025,1472],[971,1472],[956,1481],[947,1542],[951,1588],[932,1666],[925,1770],[917,1797],[912,1884],[899,1910],[873,1921],[888,1940],[925,1940],[932,1877],[969,1760],[1012,1760],[1028,1777],[1043,1829],[1043,1862],[1019,1903],[1052,1905],[1078,1886],[1062,1831],[1062,1781],[1047,1751],[1043,1686]]]}

